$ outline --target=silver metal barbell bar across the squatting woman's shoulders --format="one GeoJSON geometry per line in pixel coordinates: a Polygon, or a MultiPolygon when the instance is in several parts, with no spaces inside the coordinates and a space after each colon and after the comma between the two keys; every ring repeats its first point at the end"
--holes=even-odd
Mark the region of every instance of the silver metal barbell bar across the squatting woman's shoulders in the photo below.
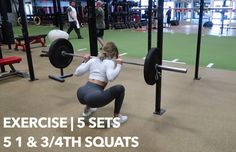
{"type": "MultiPolygon", "coordinates": [[[[65,51],[62,51],[61,55],[75,56],[75,57],[79,57],[79,58],[84,57],[79,54],[67,53],[65,51]]],[[[96,56],[91,56],[91,57],[96,57],[96,56]]],[[[122,63],[123,64],[130,64],[130,65],[137,65],[137,66],[144,66],[144,64],[142,64],[142,63],[135,63],[135,62],[128,62],[128,61],[122,61],[122,63]]],[[[172,71],[172,72],[187,73],[187,69],[185,69],[185,68],[170,67],[170,66],[158,65],[158,64],[156,64],[156,68],[161,69],[161,70],[166,70],[166,71],[172,71]]]]}

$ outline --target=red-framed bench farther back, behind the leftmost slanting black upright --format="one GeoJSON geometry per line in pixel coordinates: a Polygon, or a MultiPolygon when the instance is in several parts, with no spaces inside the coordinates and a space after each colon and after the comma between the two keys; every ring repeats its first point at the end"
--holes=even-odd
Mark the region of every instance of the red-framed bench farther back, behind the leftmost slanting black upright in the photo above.
{"type": "MultiPolygon", "coordinates": [[[[29,42],[30,44],[36,44],[40,43],[42,47],[45,47],[46,44],[46,36],[47,34],[41,34],[41,35],[31,35],[29,36],[29,42]]],[[[18,47],[22,47],[22,50],[25,52],[25,42],[23,36],[15,37],[15,50],[18,50],[18,47]]]]}

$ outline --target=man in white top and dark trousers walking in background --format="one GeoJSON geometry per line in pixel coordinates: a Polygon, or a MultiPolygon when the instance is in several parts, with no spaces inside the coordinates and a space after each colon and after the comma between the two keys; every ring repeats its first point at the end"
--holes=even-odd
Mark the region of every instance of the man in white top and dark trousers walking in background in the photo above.
{"type": "Polygon", "coordinates": [[[67,14],[68,14],[68,21],[69,21],[69,28],[67,30],[67,33],[70,34],[70,32],[74,29],[77,34],[78,39],[83,39],[83,37],[80,34],[80,25],[77,19],[75,1],[70,1],[70,6],[67,8],[67,14]]]}

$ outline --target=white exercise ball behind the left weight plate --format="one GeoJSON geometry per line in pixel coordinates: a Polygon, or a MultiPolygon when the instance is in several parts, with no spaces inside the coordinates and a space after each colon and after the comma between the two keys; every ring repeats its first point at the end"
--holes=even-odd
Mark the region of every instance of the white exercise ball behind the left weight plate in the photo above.
{"type": "Polygon", "coordinates": [[[62,30],[51,30],[48,32],[48,39],[50,42],[55,41],[56,39],[63,38],[63,39],[68,39],[69,34],[66,33],[65,31],[62,30]]]}

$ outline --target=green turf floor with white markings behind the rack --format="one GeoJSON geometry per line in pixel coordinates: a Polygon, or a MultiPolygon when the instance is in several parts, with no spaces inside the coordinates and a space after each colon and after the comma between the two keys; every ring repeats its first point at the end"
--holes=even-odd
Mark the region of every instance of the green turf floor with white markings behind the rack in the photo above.
{"type": "MultiPolygon", "coordinates": [[[[32,26],[29,25],[29,35],[47,34],[54,29],[53,26],[32,26]]],[[[19,26],[14,27],[15,36],[21,34],[19,26]]],[[[75,32],[72,31],[70,41],[75,50],[81,48],[89,49],[89,36],[86,27],[81,29],[84,39],[78,40],[75,32]]],[[[156,46],[157,33],[152,33],[152,46],[156,46]]],[[[106,30],[105,41],[114,41],[120,53],[127,53],[126,56],[143,58],[147,53],[147,32],[134,32],[126,30],[106,30]]],[[[197,35],[186,35],[183,33],[164,33],[163,59],[184,62],[194,65],[196,58],[197,35]]],[[[47,40],[47,45],[50,42],[47,40]]],[[[89,50],[88,50],[89,51],[89,50]]],[[[202,36],[200,66],[206,67],[213,63],[213,68],[228,69],[236,71],[236,37],[202,36]]]]}

